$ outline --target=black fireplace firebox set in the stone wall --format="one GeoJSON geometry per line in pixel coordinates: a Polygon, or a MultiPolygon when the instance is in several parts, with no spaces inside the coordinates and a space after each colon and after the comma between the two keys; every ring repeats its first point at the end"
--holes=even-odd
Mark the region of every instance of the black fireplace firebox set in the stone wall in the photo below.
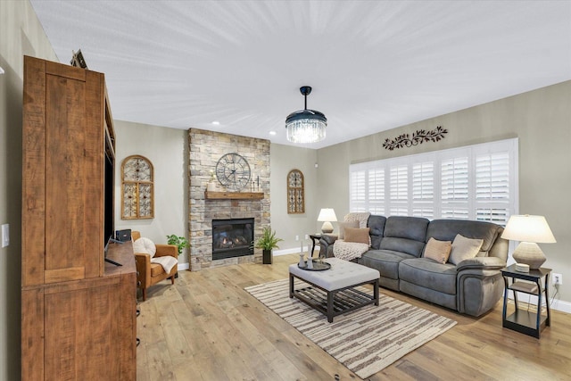
{"type": "Polygon", "coordinates": [[[212,260],[253,255],[253,219],[212,219],[212,260]]]}

